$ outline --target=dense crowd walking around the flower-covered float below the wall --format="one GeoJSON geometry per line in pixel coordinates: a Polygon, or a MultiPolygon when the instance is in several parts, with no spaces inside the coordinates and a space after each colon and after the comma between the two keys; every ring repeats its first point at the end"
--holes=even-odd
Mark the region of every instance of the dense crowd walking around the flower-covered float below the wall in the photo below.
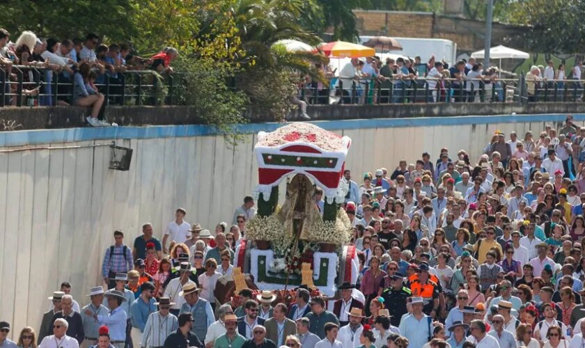
{"type": "Polygon", "coordinates": [[[583,347],[584,146],[585,127],[568,116],[539,139],[496,132],[474,161],[443,148],[436,161],[425,152],[359,184],[346,169],[341,209],[359,276],[335,297],[300,285],[292,301],[246,288],[223,303],[215,288],[233,274],[254,200],[213,236],[179,208],[162,241],[150,223],[132,246],[116,230],[107,286],[78,303],[63,282],[40,328],[15,343],[0,322],[0,346],[583,347]]]}

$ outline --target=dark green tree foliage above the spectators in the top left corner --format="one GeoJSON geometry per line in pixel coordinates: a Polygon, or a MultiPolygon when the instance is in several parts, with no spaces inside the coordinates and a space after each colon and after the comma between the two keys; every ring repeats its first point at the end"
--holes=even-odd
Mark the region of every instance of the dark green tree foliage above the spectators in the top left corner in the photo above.
{"type": "Polygon", "coordinates": [[[92,32],[123,42],[137,33],[131,14],[130,0],[10,0],[3,3],[0,22],[13,40],[29,30],[42,38],[84,38],[92,32]]]}

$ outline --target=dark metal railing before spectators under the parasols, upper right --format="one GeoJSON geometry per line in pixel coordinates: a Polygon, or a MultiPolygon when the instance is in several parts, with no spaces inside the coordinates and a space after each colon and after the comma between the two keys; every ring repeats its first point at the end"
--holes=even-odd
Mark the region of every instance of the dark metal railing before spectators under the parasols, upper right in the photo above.
{"type": "Polygon", "coordinates": [[[309,104],[409,104],[459,102],[577,102],[583,81],[520,79],[330,79],[329,86],[308,84],[299,97],[309,104]],[[344,84],[345,81],[345,84],[344,84]],[[349,84],[349,86],[346,86],[349,84]],[[532,90],[534,92],[532,93],[532,90]]]}

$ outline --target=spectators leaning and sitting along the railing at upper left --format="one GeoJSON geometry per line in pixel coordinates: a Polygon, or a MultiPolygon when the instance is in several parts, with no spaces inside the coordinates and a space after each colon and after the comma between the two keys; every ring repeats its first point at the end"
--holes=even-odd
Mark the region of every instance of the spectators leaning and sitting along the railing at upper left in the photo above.
{"type": "Polygon", "coordinates": [[[111,95],[116,95],[110,102],[120,104],[123,86],[120,74],[127,70],[155,70],[160,74],[170,74],[173,72],[171,61],[176,56],[177,49],[166,47],[155,56],[141,58],[134,54],[130,45],[106,45],[95,33],[89,33],[84,39],[58,40],[38,38],[32,31],[23,31],[16,42],[12,42],[10,33],[0,29],[0,68],[6,72],[5,93],[8,96],[5,102],[17,104],[20,77],[13,66],[18,65],[22,70],[23,95],[30,97],[31,102],[42,106],[91,107],[86,120],[93,127],[111,125],[98,119],[104,105],[104,85],[109,84],[111,95]],[[59,79],[57,91],[52,90],[54,79],[59,79]],[[38,100],[33,98],[39,94],[38,100]]]}

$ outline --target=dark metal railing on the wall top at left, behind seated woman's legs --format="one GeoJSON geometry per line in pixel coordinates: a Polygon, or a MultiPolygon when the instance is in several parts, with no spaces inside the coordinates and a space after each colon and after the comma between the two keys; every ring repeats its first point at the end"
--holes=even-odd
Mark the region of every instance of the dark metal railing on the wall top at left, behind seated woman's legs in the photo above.
{"type": "MultiPolygon", "coordinates": [[[[95,87],[106,105],[176,105],[180,84],[180,73],[162,76],[153,70],[127,70],[98,75],[95,87]]],[[[74,90],[73,77],[67,72],[31,65],[0,68],[0,106],[74,105],[74,90]]]]}

